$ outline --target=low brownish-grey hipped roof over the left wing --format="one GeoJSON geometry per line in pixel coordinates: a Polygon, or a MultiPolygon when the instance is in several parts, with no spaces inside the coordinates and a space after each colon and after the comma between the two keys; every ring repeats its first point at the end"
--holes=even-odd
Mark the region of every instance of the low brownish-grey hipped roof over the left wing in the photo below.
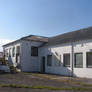
{"type": "Polygon", "coordinates": [[[4,46],[7,46],[7,45],[11,45],[13,43],[16,43],[16,42],[19,42],[21,40],[27,40],[27,41],[38,41],[38,42],[48,42],[48,37],[44,37],[44,36],[37,36],[37,35],[29,35],[29,36],[26,36],[26,37],[22,37],[18,40],[15,40],[13,42],[10,42],[8,44],[5,44],[3,45],[4,46]]]}

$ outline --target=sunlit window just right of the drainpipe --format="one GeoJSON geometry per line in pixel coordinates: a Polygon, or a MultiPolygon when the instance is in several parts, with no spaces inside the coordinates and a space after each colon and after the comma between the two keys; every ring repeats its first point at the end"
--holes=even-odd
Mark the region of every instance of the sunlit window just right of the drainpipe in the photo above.
{"type": "Polygon", "coordinates": [[[75,54],[75,67],[77,68],[83,67],[83,54],[82,53],[75,54]]]}

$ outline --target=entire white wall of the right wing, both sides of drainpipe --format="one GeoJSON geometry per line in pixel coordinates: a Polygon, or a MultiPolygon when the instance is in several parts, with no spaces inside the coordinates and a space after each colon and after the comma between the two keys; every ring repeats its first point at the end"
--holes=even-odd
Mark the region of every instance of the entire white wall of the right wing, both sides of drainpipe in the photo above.
{"type": "MultiPolygon", "coordinates": [[[[88,77],[92,78],[92,68],[86,67],[86,52],[92,52],[92,40],[84,40],[73,43],[74,53],[83,53],[83,68],[75,68],[74,67],[74,76],[77,77],[88,77]]],[[[71,75],[71,67],[63,67],[63,54],[70,53],[70,62],[72,66],[72,46],[71,43],[61,44],[57,46],[47,46],[40,48],[40,61],[41,57],[46,57],[46,72],[61,74],[61,75],[71,75]],[[54,66],[54,59],[52,66],[47,66],[47,55],[54,54],[57,52],[61,55],[61,66],[54,66]]],[[[52,57],[53,58],[53,57],[52,57]]],[[[41,65],[41,64],[40,64],[41,65]]]]}

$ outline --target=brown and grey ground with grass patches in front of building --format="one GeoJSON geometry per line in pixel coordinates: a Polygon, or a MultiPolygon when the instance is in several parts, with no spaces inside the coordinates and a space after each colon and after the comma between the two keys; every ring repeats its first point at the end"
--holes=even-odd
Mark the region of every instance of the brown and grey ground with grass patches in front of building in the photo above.
{"type": "Polygon", "coordinates": [[[0,74],[0,92],[92,92],[92,79],[40,73],[0,74]]]}

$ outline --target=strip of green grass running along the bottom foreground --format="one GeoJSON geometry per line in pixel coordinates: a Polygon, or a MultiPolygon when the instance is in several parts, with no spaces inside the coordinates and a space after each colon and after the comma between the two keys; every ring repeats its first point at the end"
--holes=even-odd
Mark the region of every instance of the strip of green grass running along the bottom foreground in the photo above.
{"type": "Polygon", "coordinates": [[[48,90],[73,90],[73,91],[88,91],[91,90],[92,88],[74,88],[74,87],[61,87],[61,88],[57,88],[57,87],[50,87],[50,86],[38,86],[38,85],[31,85],[31,86],[27,86],[27,85],[17,85],[17,84],[0,84],[0,87],[10,87],[10,88],[31,88],[31,89],[48,89],[48,90]]]}

